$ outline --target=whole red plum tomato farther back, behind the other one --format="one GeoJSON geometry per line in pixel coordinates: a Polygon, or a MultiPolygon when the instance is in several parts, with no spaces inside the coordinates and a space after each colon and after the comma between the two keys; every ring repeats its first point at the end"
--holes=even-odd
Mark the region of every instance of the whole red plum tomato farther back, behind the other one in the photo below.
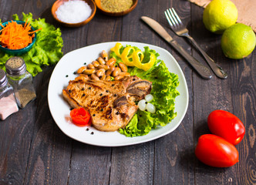
{"type": "Polygon", "coordinates": [[[209,114],[207,122],[211,133],[223,137],[234,145],[240,143],[244,137],[244,124],[232,113],[214,110],[209,114]]]}

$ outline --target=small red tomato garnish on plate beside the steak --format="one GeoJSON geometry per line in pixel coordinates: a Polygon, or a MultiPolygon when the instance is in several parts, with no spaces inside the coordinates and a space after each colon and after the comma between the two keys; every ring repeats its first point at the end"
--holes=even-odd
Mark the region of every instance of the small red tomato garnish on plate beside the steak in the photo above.
{"type": "Polygon", "coordinates": [[[83,107],[72,109],[70,111],[70,116],[72,118],[72,122],[77,126],[86,126],[91,124],[90,115],[83,107]]]}

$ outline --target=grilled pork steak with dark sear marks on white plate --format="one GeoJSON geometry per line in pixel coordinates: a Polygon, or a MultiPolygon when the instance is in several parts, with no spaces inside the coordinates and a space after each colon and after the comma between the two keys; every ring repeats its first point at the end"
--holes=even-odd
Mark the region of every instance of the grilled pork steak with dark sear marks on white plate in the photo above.
{"type": "Polygon", "coordinates": [[[97,130],[116,131],[124,128],[136,113],[134,103],[151,91],[151,82],[137,76],[120,81],[72,80],[62,95],[73,108],[89,111],[97,130]]]}

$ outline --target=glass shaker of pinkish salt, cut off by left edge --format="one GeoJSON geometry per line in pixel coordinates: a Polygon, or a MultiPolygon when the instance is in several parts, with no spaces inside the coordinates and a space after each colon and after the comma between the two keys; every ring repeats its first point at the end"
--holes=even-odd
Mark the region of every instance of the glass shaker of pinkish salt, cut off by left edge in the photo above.
{"type": "Polygon", "coordinates": [[[12,86],[8,83],[5,71],[0,69],[0,119],[5,120],[18,110],[12,86]]]}

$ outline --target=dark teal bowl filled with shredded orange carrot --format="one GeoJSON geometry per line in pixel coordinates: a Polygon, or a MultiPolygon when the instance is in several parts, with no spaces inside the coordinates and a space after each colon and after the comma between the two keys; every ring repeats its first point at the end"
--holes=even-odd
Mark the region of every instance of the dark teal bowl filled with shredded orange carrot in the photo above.
{"type": "Polygon", "coordinates": [[[0,23],[0,50],[9,55],[29,52],[36,40],[36,32],[30,22],[8,21],[0,23]]]}

